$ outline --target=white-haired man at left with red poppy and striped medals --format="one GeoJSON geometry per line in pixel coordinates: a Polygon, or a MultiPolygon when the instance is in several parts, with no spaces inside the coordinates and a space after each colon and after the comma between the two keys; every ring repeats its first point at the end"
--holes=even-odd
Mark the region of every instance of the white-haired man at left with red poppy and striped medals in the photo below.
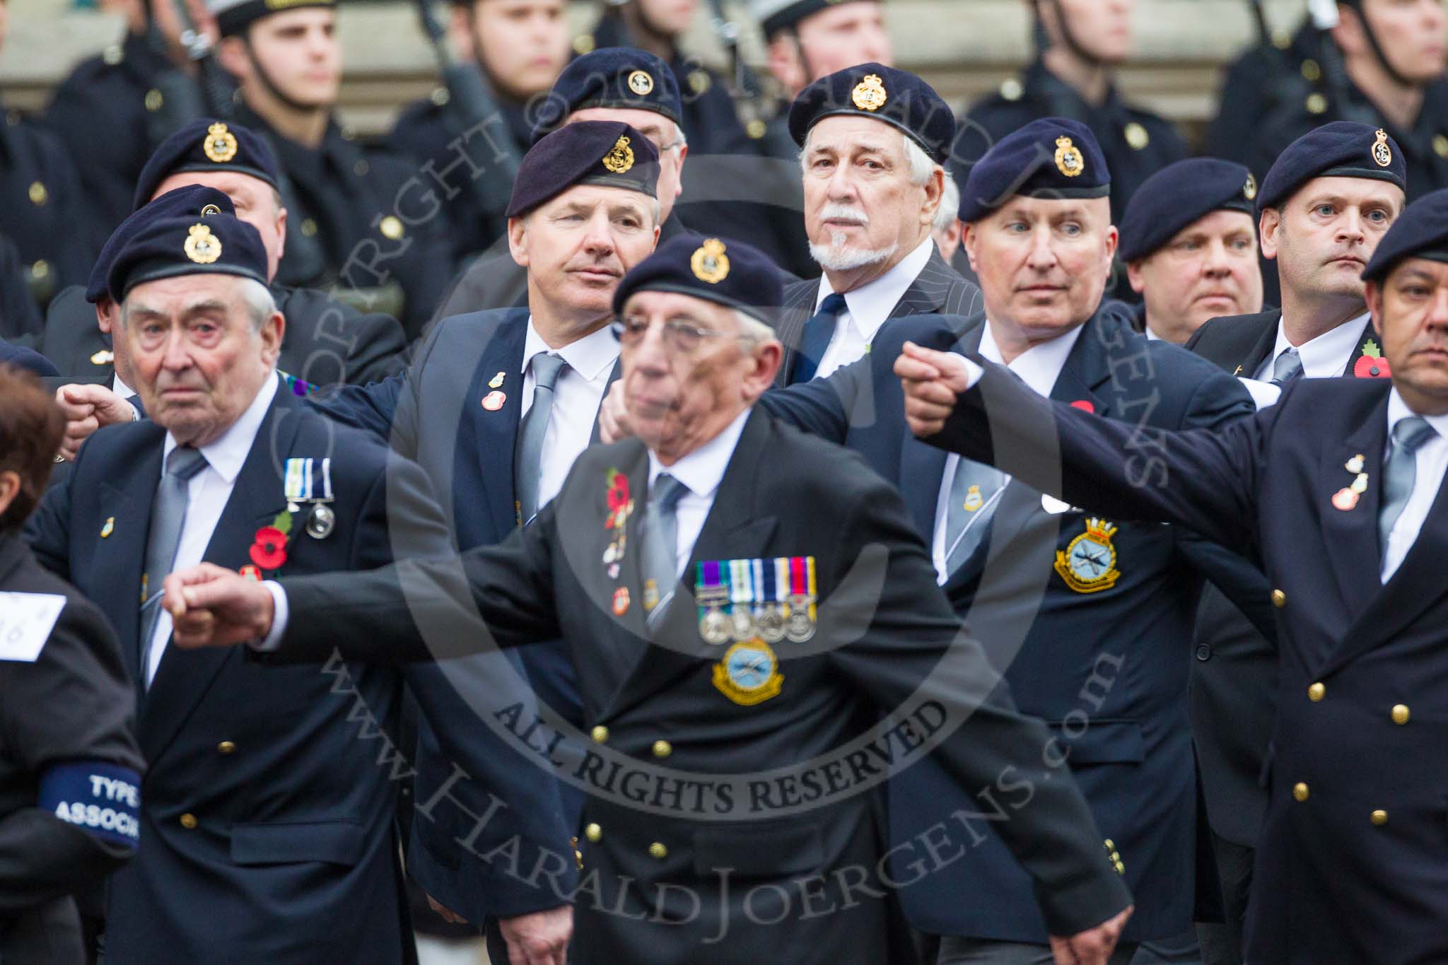
{"type": "Polygon", "coordinates": [[[143,845],[111,880],[106,956],[407,962],[397,781],[378,765],[395,754],[382,735],[403,679],[198,660],[171,644],[159,590],[201,560],[259,579],[440,553],[446,524],[416,466],[279,378],[285,320],[256,229],[162,208],[143,210],[107,275],[149,418],[93,435],[26,528],[42,566],[116,626],[136,694],[143,845]]]}

